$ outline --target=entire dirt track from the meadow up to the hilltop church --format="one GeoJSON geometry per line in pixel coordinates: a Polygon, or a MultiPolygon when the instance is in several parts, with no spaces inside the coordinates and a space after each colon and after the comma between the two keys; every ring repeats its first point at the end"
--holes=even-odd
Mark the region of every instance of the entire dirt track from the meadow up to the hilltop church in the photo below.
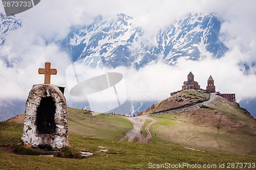
{"type": "MultiPolygon", "coordinates": [[[[216,95],[216,92],[210,93],[210,99],[208,101],[205,101],[205,102],[202,102],[202,103],[199,103],[196,105],[192,105],[192,106],[187,106],[184,108],[190,108],[190,107],[195,107],[197,105],[210,103],[210,102],[214,101],[217,97],[218,97],[218,95],[216,95]]],[[[184,108],[182,108],[182,109],[184,109],[184,108]]],[[[175,110],[179,110],[179,109],[175,109],[175,110]]],[[[172,110],[172,112],[175,110],[172,110]]],[[[163,112],[163,113],[165,113],[165,112],[163,112]]],[[[157,113],[157,114],[161,114],[161,113],[157,113]]],[[[137,116],[137,117],[125,117],[131,121],[134,129],[129,132],[126,132],[125,136],[123,138],[121,138],[119,141],[124,141],[125,139],[127,139],[127,141],[132,142],[132,141],[134,141],[134,138],[137,137],[137,142],[147,143],[148,139],[150,139],[152,137],[150,127],[152,124],[154,124],[156,122],[155,118],[148,117],[148,115],[154,115],[154,113],[137,116]],[[144,123],[146,122],[146,119],[150,119],[151,122],[148,123],[145,127],[146,137],[144,138],[141,134],[141,131],[142,131],[142,127],[143,127],[144,123]]]]}

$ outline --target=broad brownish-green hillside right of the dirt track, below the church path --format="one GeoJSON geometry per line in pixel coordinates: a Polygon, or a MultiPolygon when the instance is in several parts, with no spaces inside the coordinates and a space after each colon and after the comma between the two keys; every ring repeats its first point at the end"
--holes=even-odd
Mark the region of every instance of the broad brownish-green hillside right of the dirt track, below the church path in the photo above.
{"type": "Polygon", "coordinates": [[[248,117],[245,109],[221,97],[213,105],[205,106],[153,115],[158,122],[151,126],[152,133],[157,133],[152,140],[208,151],[256,155],[256,120],[248,117]]]}

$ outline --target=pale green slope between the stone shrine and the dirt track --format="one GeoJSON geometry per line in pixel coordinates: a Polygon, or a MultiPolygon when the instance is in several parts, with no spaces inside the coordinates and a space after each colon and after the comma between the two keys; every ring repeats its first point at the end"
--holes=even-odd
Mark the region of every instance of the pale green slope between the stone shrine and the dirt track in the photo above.
{"type": "Polygon", "coordinates": [[[69,133],[99,139],[121,139],[133,129],[130,120],[112,114],[83,114],[84,110],[67,108],[69,133]]]}

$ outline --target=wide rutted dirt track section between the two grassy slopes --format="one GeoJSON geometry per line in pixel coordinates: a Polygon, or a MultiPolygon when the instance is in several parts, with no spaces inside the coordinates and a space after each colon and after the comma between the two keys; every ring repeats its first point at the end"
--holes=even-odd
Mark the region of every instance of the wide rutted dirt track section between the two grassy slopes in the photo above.
{"type": "Polygon", "coordinates": [[[132,131],[126,132],[125,136],[121,138],[119,141],[124,141],[125,139],[127,139],[127,141],[132,142],[134,141],[135,137],[137,137],[137,142],[147,143],[147,140],[152,137],[150,132],[150,126],[154,124],[156,120],[152,117],[147,117],[147,116],[126,117],[126,118],[132,122],[134,129],[132,131]],[[148,123],[145,127],[145,131],[147,135],[144,138],[141,134],[141,131],[144,123],[146,122],[146,119],[151,119],[151,122],[148,123]]]}

